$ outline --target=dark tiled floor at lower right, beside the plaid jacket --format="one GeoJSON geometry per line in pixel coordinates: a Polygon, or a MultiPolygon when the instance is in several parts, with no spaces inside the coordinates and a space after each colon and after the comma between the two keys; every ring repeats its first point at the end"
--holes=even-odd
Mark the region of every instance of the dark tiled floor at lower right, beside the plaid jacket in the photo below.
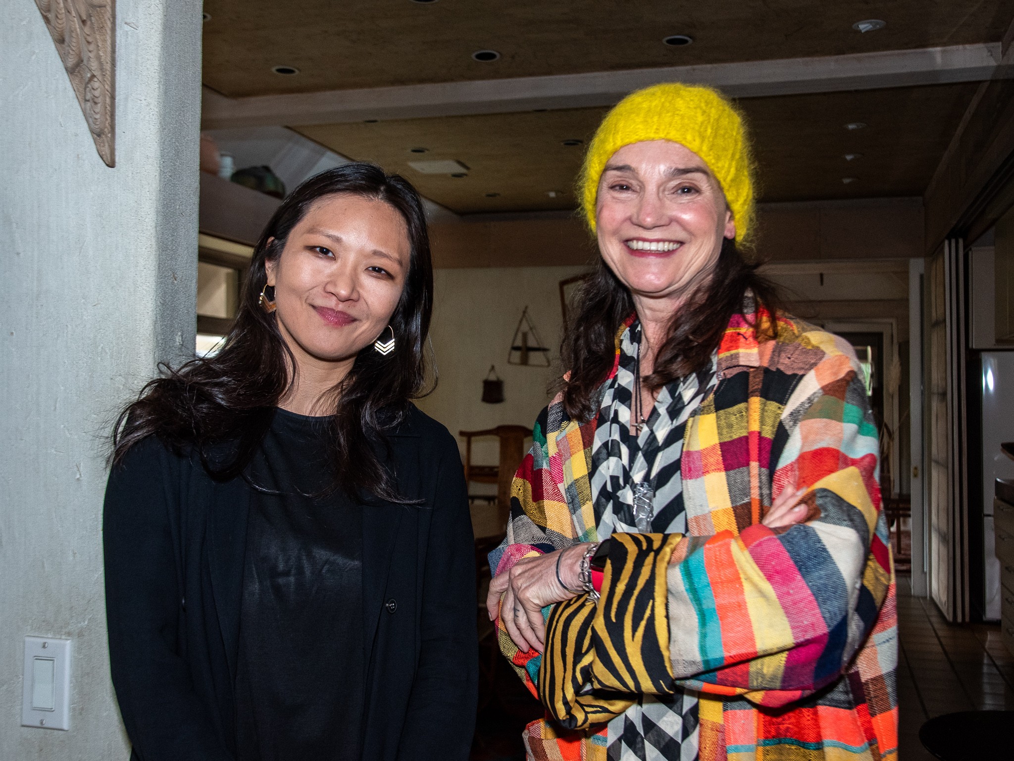
{"type": "Polygon", "coordinates": [[[897,578],[898,758],[931,761],[919,742],[930,717],[962,710],[1014,709],[1014,655],[999,624],[947,623],[931,600],[897,578]]]}

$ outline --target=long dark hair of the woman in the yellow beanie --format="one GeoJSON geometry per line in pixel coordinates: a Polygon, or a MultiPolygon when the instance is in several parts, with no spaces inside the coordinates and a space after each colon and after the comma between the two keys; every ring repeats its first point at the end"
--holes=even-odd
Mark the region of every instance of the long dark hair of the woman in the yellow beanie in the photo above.
{"type": "MultiPolygon", "coordinates": [[[[723,241],[711,278],[672,315],[668,337],[655,355],[654,372],[644,379],[651,389],[702,370],[711,361],[732,315],[742,310],[747,292],[752,292],[757,320],[764,322],[758,331],[774,335],[780,298],[775,286],[757,274],[757,267],[743,258],[734,240],[723,241]]],[[[587,421],[597,411],[595,390],[612,370],[617,331],[634,314],[634,298],[599,257],[574,301],[576,318],[563,343],[564,367],[570,371],[563,384],[564,408],[572,418],[587,421]]]]}

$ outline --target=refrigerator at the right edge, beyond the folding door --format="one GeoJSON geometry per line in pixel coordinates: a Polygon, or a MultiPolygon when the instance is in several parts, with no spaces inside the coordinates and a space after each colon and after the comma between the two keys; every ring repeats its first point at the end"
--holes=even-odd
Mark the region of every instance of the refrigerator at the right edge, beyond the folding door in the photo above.
{"type": "Polygon", "coordinates": [[[1014,478],[1014,460],[1000,450],[1002,442],[1014,441],[1014,352],[982,352],[980,369],[984,612],[987,620],[999,621],[1000,561],[994,552],[993,484],[997,478],[1014,478]]]}

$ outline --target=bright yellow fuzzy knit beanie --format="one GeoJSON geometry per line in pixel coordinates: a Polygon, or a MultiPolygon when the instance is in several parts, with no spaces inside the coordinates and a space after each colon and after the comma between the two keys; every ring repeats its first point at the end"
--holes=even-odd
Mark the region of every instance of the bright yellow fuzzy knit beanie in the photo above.
{"type": "Polygon", "coordinates": [[[671,140],[703,158],[725,192],[736,222],[736,241],[753,226],[753,179],[742,118],[710,87],[656,84],[621,100],[588,146],[579,189],[585,220],[595,231],[595,197],[605,163],[625,145],[671,140]]]}

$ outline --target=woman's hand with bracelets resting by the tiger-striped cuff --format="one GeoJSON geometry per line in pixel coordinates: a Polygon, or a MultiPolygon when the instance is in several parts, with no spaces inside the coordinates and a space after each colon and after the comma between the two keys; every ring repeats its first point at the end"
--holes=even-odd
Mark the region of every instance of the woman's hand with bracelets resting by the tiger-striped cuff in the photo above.
{"type": "Polygon", "coordinates": [[[523,652],[542,652],[546,638],[542,608],[570,600],[579,594],[564,589],[557,580],[559,559],[561,578],[572,584],[573,588],[580,586],[576,580],[585,545],[578,544],[575,547],[537,557],[524,557],[509,572],[490,582],[490,593],[486,598],[490,618],[496,618],[499,609],[507,633],[523,652]]]}

